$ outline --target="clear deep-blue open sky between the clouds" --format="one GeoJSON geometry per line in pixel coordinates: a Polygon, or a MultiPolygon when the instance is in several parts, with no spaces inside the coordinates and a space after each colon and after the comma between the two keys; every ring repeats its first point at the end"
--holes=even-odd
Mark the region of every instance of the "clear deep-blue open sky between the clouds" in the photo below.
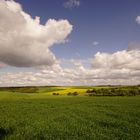
{"type": "Polygon", "coordinates": [[[89,58],[97,51],[115,52],[139,42],[140,29],[135,22],[140,14],[139,0],[81,0],[80,6],[65,8],[67,0],[17,0],[33,17],[40,16],[41,23],[49,18],[67,19],[74,26],[70,42],[53,47],[59,58],[89,58]],[[99,46],[92,43],[98,41],[99,46]],[[62,55],[63,54],[63,55],[62,55]]]}

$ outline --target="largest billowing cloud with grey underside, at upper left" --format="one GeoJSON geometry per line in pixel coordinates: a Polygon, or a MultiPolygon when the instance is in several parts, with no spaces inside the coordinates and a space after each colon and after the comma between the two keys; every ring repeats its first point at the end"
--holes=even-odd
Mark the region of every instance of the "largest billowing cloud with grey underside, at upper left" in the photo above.
{"type": "Polygon", "coordinates": [[[54,44],[64,43],[72,31],[67,20],[33,19],[13,0],[0,0],[0,62],[16,67],[52,65],[54,44]]]}

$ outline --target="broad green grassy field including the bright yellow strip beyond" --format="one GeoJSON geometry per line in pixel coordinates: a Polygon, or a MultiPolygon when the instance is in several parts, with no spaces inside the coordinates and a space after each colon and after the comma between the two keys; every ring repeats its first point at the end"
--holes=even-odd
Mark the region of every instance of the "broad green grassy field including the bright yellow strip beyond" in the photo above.
{"type": "Polygon", "coordinates": [[[0,89],[0,140],[140,140],[139,95],[84,96],[87,89],[0,89]]]}

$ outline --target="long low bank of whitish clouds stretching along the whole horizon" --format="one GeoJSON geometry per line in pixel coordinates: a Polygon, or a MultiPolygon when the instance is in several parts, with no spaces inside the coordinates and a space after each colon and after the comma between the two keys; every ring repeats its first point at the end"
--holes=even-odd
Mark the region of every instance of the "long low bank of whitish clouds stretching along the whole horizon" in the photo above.
{"type": "Polygon", "coordinates": [[[140,84],[140,51],[97,53],[86,60],[63,60],[35,72],[2,73],[1,86],[23,85],[134,85],[140,84]],[[63,67],[63,63],[71,67],[63,67]],[[92,64],[87,67],[87,64],[92,64]]]}

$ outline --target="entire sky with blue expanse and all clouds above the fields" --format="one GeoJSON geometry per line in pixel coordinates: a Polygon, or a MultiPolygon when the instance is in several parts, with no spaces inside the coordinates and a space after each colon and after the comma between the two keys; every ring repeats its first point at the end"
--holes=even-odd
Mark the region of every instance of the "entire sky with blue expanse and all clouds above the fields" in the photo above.
{"type": "Polygon", "coordinates": [[[0,0],[0,86],[140,84],[139,0],[0,0]]]}

